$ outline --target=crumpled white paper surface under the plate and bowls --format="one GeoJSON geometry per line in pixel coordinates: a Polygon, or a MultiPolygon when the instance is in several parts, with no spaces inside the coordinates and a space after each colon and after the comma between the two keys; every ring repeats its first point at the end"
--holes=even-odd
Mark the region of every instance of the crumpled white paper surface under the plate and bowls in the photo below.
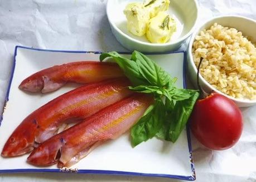
{"type": "MultiPolygon", "coordinates": [[[[110,0],[111,1],[111,0],[110,0]]],[[[105,0],[0,0],[0,108],[16,45],[62,50],[125,51],[114,38],[105,0]]],[[[199,0],[200,22],[238,14],[256,19],[255,0],[199,0]]],[[[181,49],[186,50],[187,44],[181,49]]],[[[256,106],[243,108],[244,131],[225,151],[212,151],[192,136],[196,181],[256,181],[256,106]]],[[[0,164],[1,165],[1,164],[0,164]]],[[[171,165],[171,164],[170,164],[171,165]]],[[[179,181],[136,176],[26,173],[0,174],[0,181],[179,181]]]]}

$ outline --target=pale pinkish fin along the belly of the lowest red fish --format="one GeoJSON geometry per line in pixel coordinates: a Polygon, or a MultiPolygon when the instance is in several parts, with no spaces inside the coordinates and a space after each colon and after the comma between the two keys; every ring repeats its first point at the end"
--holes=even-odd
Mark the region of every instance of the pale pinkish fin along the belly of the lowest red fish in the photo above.
{"type": "Polygon", "coordinates": [[[58,168],[69,168],[70,166],[73,166],[74,164],[78,163],[81,159],[85,158],[85,156],[90,154],[91,151],[93,151],[97,146],[101,145],[103,142],[104,140],[89,143],[89,145],[86,145],[84,149],[79,151],[75,156],[73,156],[70,160],[66,161],[65,163],[60,158],[59,163],[57,164],[58,168]]]}

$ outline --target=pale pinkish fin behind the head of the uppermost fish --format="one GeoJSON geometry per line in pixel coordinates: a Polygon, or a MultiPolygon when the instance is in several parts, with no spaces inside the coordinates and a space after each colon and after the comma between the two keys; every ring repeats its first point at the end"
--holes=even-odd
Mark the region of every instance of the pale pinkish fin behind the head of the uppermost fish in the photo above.
{"type": "Polygon", "coordinates": [[[41,90],[42,93],[52,92],[66,84],[64,80],[53,81],[47,76],[43,76],[42,79],[44,80],[44,88],[41,90]]]}

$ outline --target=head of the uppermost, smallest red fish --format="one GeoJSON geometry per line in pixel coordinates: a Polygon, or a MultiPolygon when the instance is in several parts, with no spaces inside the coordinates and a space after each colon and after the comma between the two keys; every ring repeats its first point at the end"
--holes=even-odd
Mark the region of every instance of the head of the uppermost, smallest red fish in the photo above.
{"type": "Polygon", "coordinates": [[[18,88],[30,92],[40,92],[44,88],[44,79],[41,75],[31,75],[23,80],[18,88]]]}

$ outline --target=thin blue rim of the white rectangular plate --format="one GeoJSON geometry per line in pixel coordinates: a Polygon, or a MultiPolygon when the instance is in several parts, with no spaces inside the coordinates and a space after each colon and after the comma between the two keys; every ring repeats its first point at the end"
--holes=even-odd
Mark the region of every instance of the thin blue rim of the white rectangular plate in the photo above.
{"type": "MultiPolygon", "coordinates": [[[[9,91],[11,89],[12,78],[15,72],[16,66],[16,55],[17,49],[31,49],[31,50],[38,50],[38,51],[45,51],[45,52],[61,52],[61,53],[94,53],[94,54],[101,54],[102,52],[95,52],[95,51],[77,51],[77,50],[51,50],[51,49],[37,49],[37,48],[30,48],[30,47],[23,47],[23,46],[16,46],[15,47],[15,55],[13,58],[13,66],[12,66],[12,73],[11,78],[9,80],[9,85],[6,93],[6,99],[3,107],[2,114],[0,116],[0,127],[1,122],[3,120],[3,112],[6,106],[6,103],[9,100],[9,91]]],[[[119,54],[131,54],[131,52],[118,52],[119,54]]],[[[175,53],[183,53],[183,88],[186,88],[186,51],[174,51],[174,52],[165,52],[165,53],[147,53],[147,54],[175,54],[175,53]]],[[[131,175],[131,176],[151,176],[151,177],[162,177],[162,178],[174,178],[174,179],[181,179],[181,180],[188,180],[194,181],[196,179],[195,174],[195,164],[192,159],[192,146],[191,146],[191,138],[190,138],[190,129],[189,125],[186,127],[187,132],[187,143],[189,145],[189,153],[190,153],[190,163],[191,163],[191,176],[182,176],[182,175],[169,175],[169,174],[151,174],[151,173],[134,173],[134,172],[127,172],[127,171],[112,171],[112,170],[78,170],[76,173],[84,173],[84,174],[111,174],[111,175],[131,175]]],[[[52,172],[52,173],[65,173],[65,171],[61,171],[60,169],[4,169],[0,170],[0,173],[29,173],[29,172],[52,172]]]]}

